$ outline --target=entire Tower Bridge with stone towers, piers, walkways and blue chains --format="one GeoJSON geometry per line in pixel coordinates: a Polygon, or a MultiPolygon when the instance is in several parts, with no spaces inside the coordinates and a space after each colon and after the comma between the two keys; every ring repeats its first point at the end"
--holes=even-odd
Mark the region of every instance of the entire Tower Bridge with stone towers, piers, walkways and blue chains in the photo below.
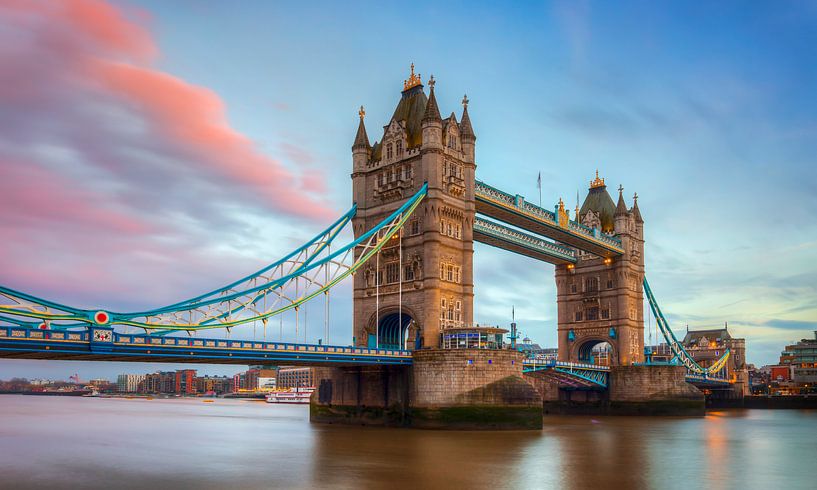
{"type": "Polygon", "coordinates": [[[457,426],[452,413],[477,407],[486,425],[535,427],[543,397],[575,390],[638,403],[671,392],[670,401],[702,409],[687,381],[728,383],[729,353],[704,367],[675,339],[645,279],[637,195],[628,206],[619,187],[614,204],[597,172],[571,218],[561,199],[551,211],[477,180],[468,98],[459,118],[443,118],[435,83],[430,77],[426,95],[412,65],[374,143],[360,108],[354,204],[281,260],[209,293],[137,312],[79,309],[0,287],[0,356],[318,366],[318,421],[393,423],[384,414],[400,413],[405,423],[410,412],[413,425],[457,426]],[[354,239],[336,243],[346,228],[354,239]],[[474,241],[554,265],[557,362],[537,364],[513,350],[441,349],[447,329],[474,325],[474,241]],[[349,276],[352,346],[198,335],[259,324],[266,332],[290,312],[299,337],[299,311],[323,301],[328,339],[330,293],[349,276]],[[645,365],[645,295],[675,365],[645,365]],[[593,347],[602,343],[611,348],[609,367],[593,365],[593,347]]]}

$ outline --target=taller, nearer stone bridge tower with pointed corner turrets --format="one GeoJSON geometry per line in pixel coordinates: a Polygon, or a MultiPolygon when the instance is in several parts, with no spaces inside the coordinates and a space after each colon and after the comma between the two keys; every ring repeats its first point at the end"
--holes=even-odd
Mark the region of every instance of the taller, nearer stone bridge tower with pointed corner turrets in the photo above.
{"type": "Polygon", "coordinates": [[[360,109],[352,146],[355,236],[394,212],[424,182],[428,195],[402,237],[354,277],[356,345],[437,347],[443,327],[473,321],[476,137],[468,99],[463,98],[460,121],[454,113],[443,119],[434,83],[432,76],[426,96],[412,64],[397,108],[373,145],[360,109]]]}

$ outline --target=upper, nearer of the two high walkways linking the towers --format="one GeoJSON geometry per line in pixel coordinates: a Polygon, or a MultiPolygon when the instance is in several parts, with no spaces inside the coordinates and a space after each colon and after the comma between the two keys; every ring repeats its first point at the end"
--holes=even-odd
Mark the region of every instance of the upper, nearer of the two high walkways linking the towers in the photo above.
{"type": "Polygon", "coordinates": [[[552,211],[530,204],[521,196],[514,196],[476,181],[474,197],[477,213],[490,218],[600,257],[624,254],[621,242],[616,238],[573,221],[567,221],[562,226],[552,211]]]}

